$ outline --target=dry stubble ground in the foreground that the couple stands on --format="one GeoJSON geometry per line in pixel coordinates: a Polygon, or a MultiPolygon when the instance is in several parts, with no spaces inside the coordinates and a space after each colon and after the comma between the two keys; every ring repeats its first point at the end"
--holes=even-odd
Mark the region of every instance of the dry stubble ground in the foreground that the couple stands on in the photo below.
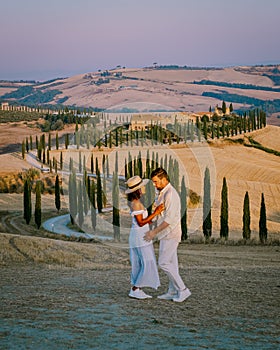
{"type": "Polygon", "coordinates": [[[176,304],[156,298],[162,273],[153,299],[130,299],[128,251],[117,245],[0,237],[1,349],[280,346],[279,247],[182,244],[192,296],[176,304]]]}

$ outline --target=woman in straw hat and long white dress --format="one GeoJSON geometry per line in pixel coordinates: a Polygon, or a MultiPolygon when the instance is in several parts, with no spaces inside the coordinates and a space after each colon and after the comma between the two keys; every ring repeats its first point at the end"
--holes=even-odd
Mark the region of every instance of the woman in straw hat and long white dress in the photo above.
{"type": "Polygon", "coordinates": [[[149,224],[152,219],[164,210],[164,206],[159,205],[148,216],[147,209],[141,202],[141,189],[148,181],[148,179],[142,180],[140,176],[133,176],[127,180],[128,189],[125,191],[132,216],[129,235],[132,287],[129,296],[136,299],[151,298],[142,290],[142,287],[157,289],[160,286],[153,243],[145,241],[143,237],[150,230],[149,224]]]}

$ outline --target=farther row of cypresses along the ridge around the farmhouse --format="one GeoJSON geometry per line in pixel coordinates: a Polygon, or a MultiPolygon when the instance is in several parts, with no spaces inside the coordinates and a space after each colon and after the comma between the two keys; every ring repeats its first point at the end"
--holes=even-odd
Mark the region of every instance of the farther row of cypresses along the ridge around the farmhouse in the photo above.
{"type": "MultiPolygon", "coordinates": [[[[219,117],[220,118],[220,117],[219,117]]],[[[80,128],[76,123],[75,133],[73,135],[73,142],[77,146],[77,149],[81,145],[85,145],[88,149],[90,146],[98,147],[122,147],[123,144],[133,147],[144,144],[149,139],[154,144],[174,143],[174,142],[193,142],[202,141],[202,136],[205,140],[209,138],[230,137],[245,132],[261,129],[266,126],[266,113],[260,109],[253,109],[244,112],[243,115],[232,114],[224,117],[222,120],[209,120],[207,115],[204,115],[201,119],[196,118],[196,122],[188,120],[184,123],[178,122],[175,118],[174,124],[168,125],[165,129],[160,123],[151,123],[147,130],[127,130],[126,125],[113,125],[110,123],[109,127],[106,126],[106,120],[104,121],[104,130],[96,127],[95,120],[89,120],[88,123],[82,123],[80,128]]],[[[69,146],[69,134],[64,136],[65,149],[69,146]]],[[[56,149],[59,149],[59,138],[56,133],[56,149]]],[[[25,157],[25,152],[33,149],[32,136],[22,142],[22,158],[25,157]]],[[[45,134],[40,136],[40,140],[36,136],[36,149],[38,159],[46,158],[46,140],[45,134]]],[[[48,134],[48,150],[52,149],[52,136],[48,134]]],[[[45,161],[44,161],[45,163],[45,161]]],[[[47,164],[49,161],[47,162],[47,164]]]]}

